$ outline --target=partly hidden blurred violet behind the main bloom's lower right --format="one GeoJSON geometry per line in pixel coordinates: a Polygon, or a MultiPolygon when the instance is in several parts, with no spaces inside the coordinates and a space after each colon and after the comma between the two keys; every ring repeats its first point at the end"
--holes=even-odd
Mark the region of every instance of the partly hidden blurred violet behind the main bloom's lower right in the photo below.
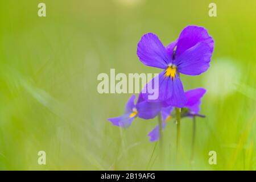
{"type": "MultiPolygon", "coordinates": [[[[204,96],[205,92],[204,88],[197,88],[188,90],[185,92],[185,97],[187,98],[187,104],[185,104],[185,108],[188,109],[188,112],[185,113],[184,117],[192,117],[192,116],[202,116],[199,114],[201,98],[204,96]]],[[[171,111],[173,110],[172,106],[162,107],[161,115],[162,115],[162,129],[166,126],[167,121],[170,121],[172,118],[171,111]]],[[[154,142],[159,139],[159,126],[157,125],[150,133],[148,134],[150,137],[150,141],[154,142]]]]}

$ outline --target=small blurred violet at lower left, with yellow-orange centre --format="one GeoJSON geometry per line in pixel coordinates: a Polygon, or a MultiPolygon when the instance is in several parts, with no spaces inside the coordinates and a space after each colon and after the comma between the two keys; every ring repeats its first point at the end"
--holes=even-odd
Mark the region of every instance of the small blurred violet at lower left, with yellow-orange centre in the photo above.
{"type": "Polygon", "coordinates": [[[137,104],[134,105],[135,98],[135,95],[130,97],[126,104],[125,114],[115,118],[108,118],[108,120],[115,126],[129,127],[135,117],[152,119],[158,115],[162,108],[160,102],[148,102],[144,100],[141,94],[139,94],[137,104]]]}

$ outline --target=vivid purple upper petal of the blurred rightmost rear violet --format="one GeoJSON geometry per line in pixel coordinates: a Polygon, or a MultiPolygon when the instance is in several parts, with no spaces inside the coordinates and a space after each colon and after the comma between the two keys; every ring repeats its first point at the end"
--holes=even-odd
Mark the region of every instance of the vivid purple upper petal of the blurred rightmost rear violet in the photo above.
{"type": "Polygon", "coordinates": [[[201,98],[207,92],[204,88],[197,88],[193,90],[188,90],[185,92],[185,96],[187,97],[187,103],[185,107],[190,109],[193,113],[197,114],[200,111],[201,98]]]}

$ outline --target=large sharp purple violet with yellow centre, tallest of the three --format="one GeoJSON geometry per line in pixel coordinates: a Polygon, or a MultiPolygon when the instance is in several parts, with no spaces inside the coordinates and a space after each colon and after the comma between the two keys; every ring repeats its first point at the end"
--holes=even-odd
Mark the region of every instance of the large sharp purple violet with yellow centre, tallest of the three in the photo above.
{"type": "Polygon", "coordinates": [[[150,102],[165,101],[174,107],[184,107],[187,100],[179,73],[195,76],[207,71],[213,48],[212,37],[205,28],[198,26],[185,27],[179,38],[167,47],[155,34],[143,35],[137,48],[139,60],[147,66],[163,69],[148,82],[154,87],[154,79],[158,79],[158,98],[148,100],[152,93],[148,90],[150,86],[143,90],[143,97],[150,102]]]}

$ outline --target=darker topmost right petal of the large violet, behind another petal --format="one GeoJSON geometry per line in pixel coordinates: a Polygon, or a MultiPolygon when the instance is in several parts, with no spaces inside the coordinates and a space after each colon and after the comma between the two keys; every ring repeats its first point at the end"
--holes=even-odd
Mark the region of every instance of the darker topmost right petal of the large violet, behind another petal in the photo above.
{"type": "Polygon", "coordinates": [[[181,31],[179,39],[177,40],[177,48],[175,51],[176,57],[179,57],[187,49],[195,46],[197,43],[205,42],[210,47],[210,51],[213,52],[214,41],[209,36],[207,30],[204,27],[199,26],[187,26],[181,31]]]}

